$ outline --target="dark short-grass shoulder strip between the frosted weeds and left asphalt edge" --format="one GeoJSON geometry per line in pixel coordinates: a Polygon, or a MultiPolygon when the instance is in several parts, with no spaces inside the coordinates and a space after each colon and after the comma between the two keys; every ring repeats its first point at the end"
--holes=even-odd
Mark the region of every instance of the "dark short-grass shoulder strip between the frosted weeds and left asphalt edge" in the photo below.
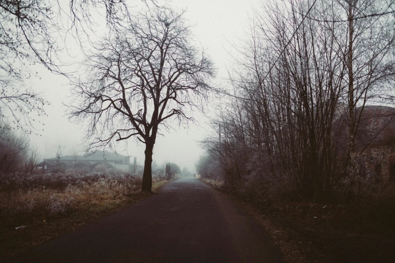
{"type": "Polygon", "coordinates": [[[24,220],[8,218],[0,222],[0,258],[11,255],[41,244],[44,241],[66,234],[90,222],[114,214],[128,206],[143,201],[156,194],[167,182],[159,181],[152,185],[152,192],[136,192],[126,194],[122,201],[105,200],[100,203],[90,203],[64,216],[41,216],[24,220]],[[21,227],[25,226],[25,227],[21,227]],[[20,227],[16,229],[16,227],[20,227]]]}

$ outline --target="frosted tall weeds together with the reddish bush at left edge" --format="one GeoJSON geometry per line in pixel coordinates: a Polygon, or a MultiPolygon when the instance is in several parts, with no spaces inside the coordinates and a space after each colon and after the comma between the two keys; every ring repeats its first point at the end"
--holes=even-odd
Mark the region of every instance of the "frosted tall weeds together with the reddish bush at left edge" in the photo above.
{"type": "MultiPolygon", "coordinates": [[[[141,189],[141,166],[133,175],[100,165],[91,172],[43,173],[36,169],[37,150],[24,135],[7,126],[0,131],[0,222],[22,223],[77,210],[105,209],[108,204],[127,201],[141,189]]],[[[164,165],[154,165],[152,178],[154,185],[165,181],[164,165]]]]}

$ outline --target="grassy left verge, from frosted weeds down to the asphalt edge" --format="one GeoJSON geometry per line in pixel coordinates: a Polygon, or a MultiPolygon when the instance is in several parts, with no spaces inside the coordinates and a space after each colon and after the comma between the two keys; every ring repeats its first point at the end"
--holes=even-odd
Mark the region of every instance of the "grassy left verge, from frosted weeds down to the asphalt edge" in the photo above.
{"type": "Polygon", "coordinates": [[[1,174],[0,258],[133,205],[166,182],[154,178],[145,193],[130,174],[1,174]]]}

